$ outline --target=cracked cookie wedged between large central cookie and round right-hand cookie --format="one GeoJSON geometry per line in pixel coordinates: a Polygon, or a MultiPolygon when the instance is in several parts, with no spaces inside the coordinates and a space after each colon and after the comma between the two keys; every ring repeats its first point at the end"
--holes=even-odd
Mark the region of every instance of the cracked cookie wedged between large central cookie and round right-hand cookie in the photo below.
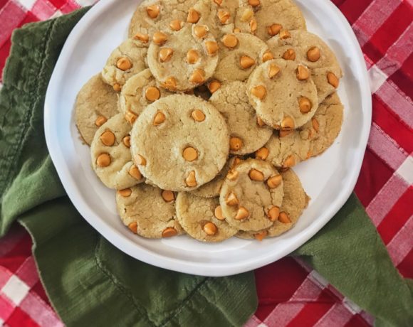
{"type": "Polygon", "coordinates": [[[270,139],[273,129],[257,123],[255,109],[246,95],[246,83],[234,81],[222,85],[209,102],[226,119],[231,154],[251,154],[270,139]]]}

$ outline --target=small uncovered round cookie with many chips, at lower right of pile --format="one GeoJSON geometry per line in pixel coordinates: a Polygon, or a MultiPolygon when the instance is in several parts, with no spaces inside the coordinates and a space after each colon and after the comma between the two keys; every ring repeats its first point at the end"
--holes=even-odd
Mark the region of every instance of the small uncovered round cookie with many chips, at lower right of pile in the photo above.
{"type": "Polygon", "coordinates": [[[219,203],[226,221],[239,230],[263,230],[278,218],[283,182],[266,161],[248,159],[226,176],[219,203]]]}

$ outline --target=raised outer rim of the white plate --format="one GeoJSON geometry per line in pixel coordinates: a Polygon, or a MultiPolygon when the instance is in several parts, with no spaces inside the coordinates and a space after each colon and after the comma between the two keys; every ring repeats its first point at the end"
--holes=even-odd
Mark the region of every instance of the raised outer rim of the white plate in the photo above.
{"type": "Polygon", "coordinates": [[[357,41],[354,31],[352,30],[350,23],[348,23],[345,16],[341,13],[341,11],[330,1],[330,0],[323,0],[323,5],[328,7],[328,10],[333,11],[335,16],[339,19],[339,22],[342,24],[345,31],[347,31],[347,36],[350,38],[352,42],[352,47],[356,51],[358,58],[357,58],[357,65],[360,65],[360,97],[361,97],[361,109],[362,109],[362,117],[365,118],[365,124],[362,125],[362,132],[360,137],[360,156],[357,158],[357,162],[354,163],[351,178],[347,181],[347,188],[345,192],[341,192],[335,198],[333,205],[329,206],[328,212],[325,214],[325,218],[323,220],[315,220],[312,225],[309,225],[301,232],[300,235],[300,245],[293,243],[288,245],[287,247],[283,248],[279,252],[274,254],[266,254],[266,256],[258,257],[258,258],[249,258],[240,260],[239,262],[232,262],[230,264],[226,263],[204,263],[204,262],[192,262],[186,259],[177,259],[174,257],[167,257],[167,255],[162,255],[152,250],[149,250],[142,245],[132,242],[131,240],[125,238],[120,232],[114,230],[112,227],[107,225],[103,220],[97,219],[96,215],[90,215],[90,210],[88,209],[88,205],[83,201],[81,197],[80,191],[78,191],[78,187],[71,180],[70,174],[68,173],[68,165],[61,154],[60,146],[58,145],[58,137],[55,132],[52,130],[53,124],[53,103],[56,103],[55,95],[53,95],[53,85],[56,85],[56,80],[58,80],[59,76],[61,75],[61,70],[65,67],[65,63],[68,61],[68,55],[64,55],[67,53],[66,48],[71,48],[73,44],[78,42],[78,39],[82,35],[83,30],[88,26],[90,23],[91,18],[98,16],[101,12],[105,11],[108,7],[112,6],[115,0],[108,0],[108,1],[99,1],[98,4],[95,4],[82,18],[80,21],[75,25],[73,30],[70,32],[68,38],[66,39],[66,43],[63,45],[61,50],[61,55],[56,62],[55,68],[53,69],[53,73],[51,75],[51,79],[48,84],[48,88],[46,91],[46,98],[44,102],[44,132],[46,136],[46,145],[48,147],[49,154],[53,161],[54,166],[56,167],[56,171],[58,176],[61,180],[63,188],[70,198],[70,201],[75,206],[76,210],[82,215],[82,217],[93,227],[97,230],[100,235],[105,237],[108,242],[112,243],[122,252],[128,254],[135,259],[139,259],[143,262],[148,264],[155,265],[157,267],[161,267],[164,269],[174,270],[177,272],[183,272],[187,274],[196,274],[208,277],[224,277],[230,276],[233,274],[239,274],[242,272],[247,272],[259,267],[263,267],[266,264],[270,264],[271,262],[275,262],[282,257],[290,254],[298,247],[303,245],[305,242],[310,240],[317,232],[319,232],[325,224],[327,224],[338,210],[343,207],[347,199],[350,197],[352,191],[355,188],[355,183],[357,182],[357,178],[360,174],[360,169],[362,166],[362,160],[364,158],[365,149],[367,147],[367,140],[370,135],[370,127],[371,127],[371,120],[372,120],[372,98],[370,92],[370,84],[369,78],[367,73],[367,67],[365,65],[364,55],[362,54],[362,50],[360,45],[357,41]],[[136,247],[139,247],[140,251],[136,250],[136,247]]]}

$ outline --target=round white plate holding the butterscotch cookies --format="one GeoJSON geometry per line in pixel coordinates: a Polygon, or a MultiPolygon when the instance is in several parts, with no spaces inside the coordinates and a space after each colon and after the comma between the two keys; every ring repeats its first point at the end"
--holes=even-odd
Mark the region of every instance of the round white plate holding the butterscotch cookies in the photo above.
{"type": "Polygon", "coordinates": [[[343,130],[322,156],[294,170],[311,201],[296,227],[263,242],[233,237],[204,244],[187,236],[146,240],[133,235],[117,216],[115,192],[90,168],[88,146],[75,127],[73,105],[80,87],[100,71],[113,48],[127,37],[127,25],[139,1],[105,0],[73,28],[48,85],[44,112],[47,146],[63,186],[85,220],[117,248],[158,267],[226,276],[281,259],[315,235],[350,196],[360,172],[370,132],[371,97],[362,52],[344,16],[329,0],[298,0],[308,30],[335,50],[344,70],[339,94],[345,104],[343,130]]]}

